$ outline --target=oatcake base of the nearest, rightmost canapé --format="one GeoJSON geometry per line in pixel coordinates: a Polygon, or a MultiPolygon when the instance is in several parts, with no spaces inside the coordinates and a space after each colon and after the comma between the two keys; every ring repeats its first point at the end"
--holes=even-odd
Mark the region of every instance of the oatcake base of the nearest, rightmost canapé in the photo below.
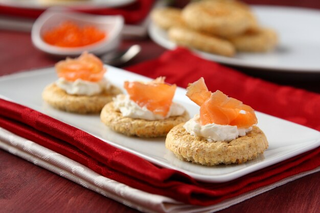
{"type": "Polygon", "coordinates": [[[209,142],[189,134],[183,125],[171,129],[166,138],[166,148],[180,160],[203,165],[243,163],[256,158],[268,148],[267,138],[257,126],[245,136],[230,142],[209,142]]]}

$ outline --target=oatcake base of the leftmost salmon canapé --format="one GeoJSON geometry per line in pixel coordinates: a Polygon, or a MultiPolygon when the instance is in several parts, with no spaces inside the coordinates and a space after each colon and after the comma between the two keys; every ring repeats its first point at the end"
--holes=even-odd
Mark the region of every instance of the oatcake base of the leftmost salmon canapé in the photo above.
{"type": "Polygon", "coordinates": [[[67,94],[55,83],[52,83],[44,88],[42,99],[59,110],[88,114],[99,113],[105,104],[112,101],[112,98],[120,93],[122,93],[121,89],[112,85],[110,89],[94,96],[67,94]]]}

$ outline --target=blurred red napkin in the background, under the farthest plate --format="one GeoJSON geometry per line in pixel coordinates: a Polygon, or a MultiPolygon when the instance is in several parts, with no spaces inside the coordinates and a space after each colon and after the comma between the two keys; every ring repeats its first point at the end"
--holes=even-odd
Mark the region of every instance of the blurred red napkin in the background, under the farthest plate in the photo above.
{"type": "MultiPolygon", "coordinates": [[[[134,24],[141,22],[150,12],[154,0],[136,0],[134,3],[117,8],[89,8],[76,9],[77,11],[97,15],[122,15],[126,23],[134,24]]],[[[25,18],[37,18],[44,9],[11,7],[0,5],[0,15],[10,15],[25,18]]]]}

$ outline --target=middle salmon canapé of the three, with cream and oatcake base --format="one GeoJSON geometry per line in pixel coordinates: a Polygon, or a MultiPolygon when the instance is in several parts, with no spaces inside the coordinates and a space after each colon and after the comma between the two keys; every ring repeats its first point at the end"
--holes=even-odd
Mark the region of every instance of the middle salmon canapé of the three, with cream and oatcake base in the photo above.
{"type": "Polygon", "coordinates": [[[189,113],[172,101],[176,85],[159,77],[151,82],[125,81],[120,94],[101,111],[101,121],[113,131],[139,137],[165,136],[189,120],[189,113]]]}

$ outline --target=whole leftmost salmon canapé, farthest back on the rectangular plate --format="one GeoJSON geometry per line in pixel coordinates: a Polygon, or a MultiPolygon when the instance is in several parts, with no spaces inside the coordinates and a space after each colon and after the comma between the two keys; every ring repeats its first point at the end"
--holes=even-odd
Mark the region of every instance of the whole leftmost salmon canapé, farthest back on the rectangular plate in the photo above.
{"type": "Polygon", "coordinates": [[[80,57],[55,65],[59,79],[44,88],[42,99],[54,108],[75,113],[99,113],[121,89],[104,76],[106,68],[99,58],[84,52],[80,57]]]}

